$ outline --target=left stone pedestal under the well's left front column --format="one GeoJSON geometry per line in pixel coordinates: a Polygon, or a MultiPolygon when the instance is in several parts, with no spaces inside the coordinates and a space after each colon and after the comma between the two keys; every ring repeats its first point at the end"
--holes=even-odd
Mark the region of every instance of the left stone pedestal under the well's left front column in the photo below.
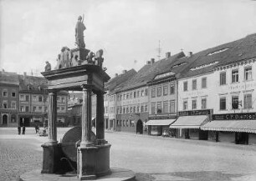
{"type": "Polygon", "coordinates": [[[59,168],[59,146],[57,142],[49,142],[42,144],[43,153],[43,169],[41,173],[55,173],[59,168]]]}

